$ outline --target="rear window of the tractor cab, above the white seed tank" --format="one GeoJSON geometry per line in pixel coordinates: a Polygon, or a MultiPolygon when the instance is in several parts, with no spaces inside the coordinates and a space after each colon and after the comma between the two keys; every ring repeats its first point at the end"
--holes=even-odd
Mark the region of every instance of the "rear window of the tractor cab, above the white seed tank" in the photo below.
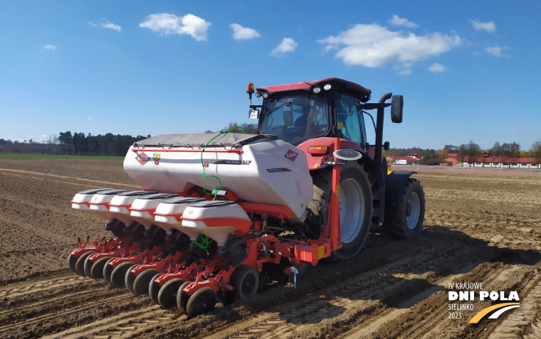
{"type": "Polygon", "coordinates": [[[261,134],[275,134],[293,146],[322,136],[329,129],[329,109],[326,97],[305,95],[274,95],[266,99],[261,112],[261,134]]]}

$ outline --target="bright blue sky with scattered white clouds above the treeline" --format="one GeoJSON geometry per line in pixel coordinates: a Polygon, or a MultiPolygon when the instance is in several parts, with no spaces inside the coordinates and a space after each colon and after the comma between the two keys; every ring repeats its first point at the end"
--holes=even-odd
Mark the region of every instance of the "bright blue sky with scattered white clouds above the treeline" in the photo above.
{"type": "Polygon", "coordinates": [[[248,119],[246,83],[404,95],[393,147],[541,139],[540,1],[1,1],[0,138],[248,119]],[[236,25],[235,25],[236,24],[236,25]]]}

